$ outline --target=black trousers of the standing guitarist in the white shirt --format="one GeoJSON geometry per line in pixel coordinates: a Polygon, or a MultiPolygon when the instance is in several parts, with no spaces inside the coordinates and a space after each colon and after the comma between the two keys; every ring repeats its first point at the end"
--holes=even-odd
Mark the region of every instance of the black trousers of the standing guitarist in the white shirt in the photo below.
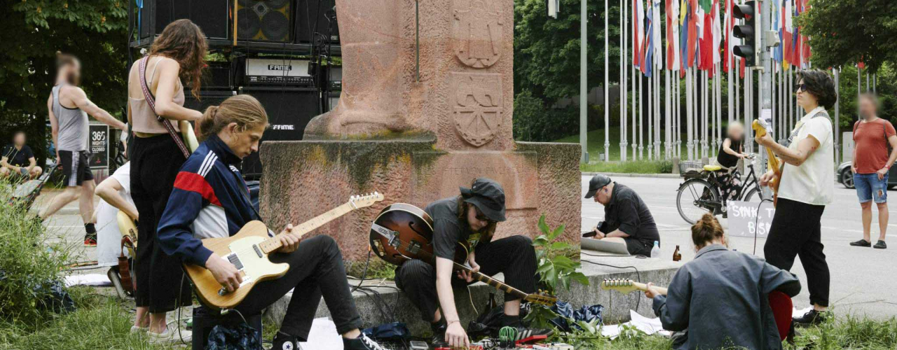
{"type": "Polygon", "coordinates": [[[831,277],[823,253],[820,227],[824,209],[823,205],[779,198],[763,254],[766,262],[784,270],[790,270],[794,266],[795,256],[799,256],[806,271],[810,303],[829,306],[831,277]]]}

